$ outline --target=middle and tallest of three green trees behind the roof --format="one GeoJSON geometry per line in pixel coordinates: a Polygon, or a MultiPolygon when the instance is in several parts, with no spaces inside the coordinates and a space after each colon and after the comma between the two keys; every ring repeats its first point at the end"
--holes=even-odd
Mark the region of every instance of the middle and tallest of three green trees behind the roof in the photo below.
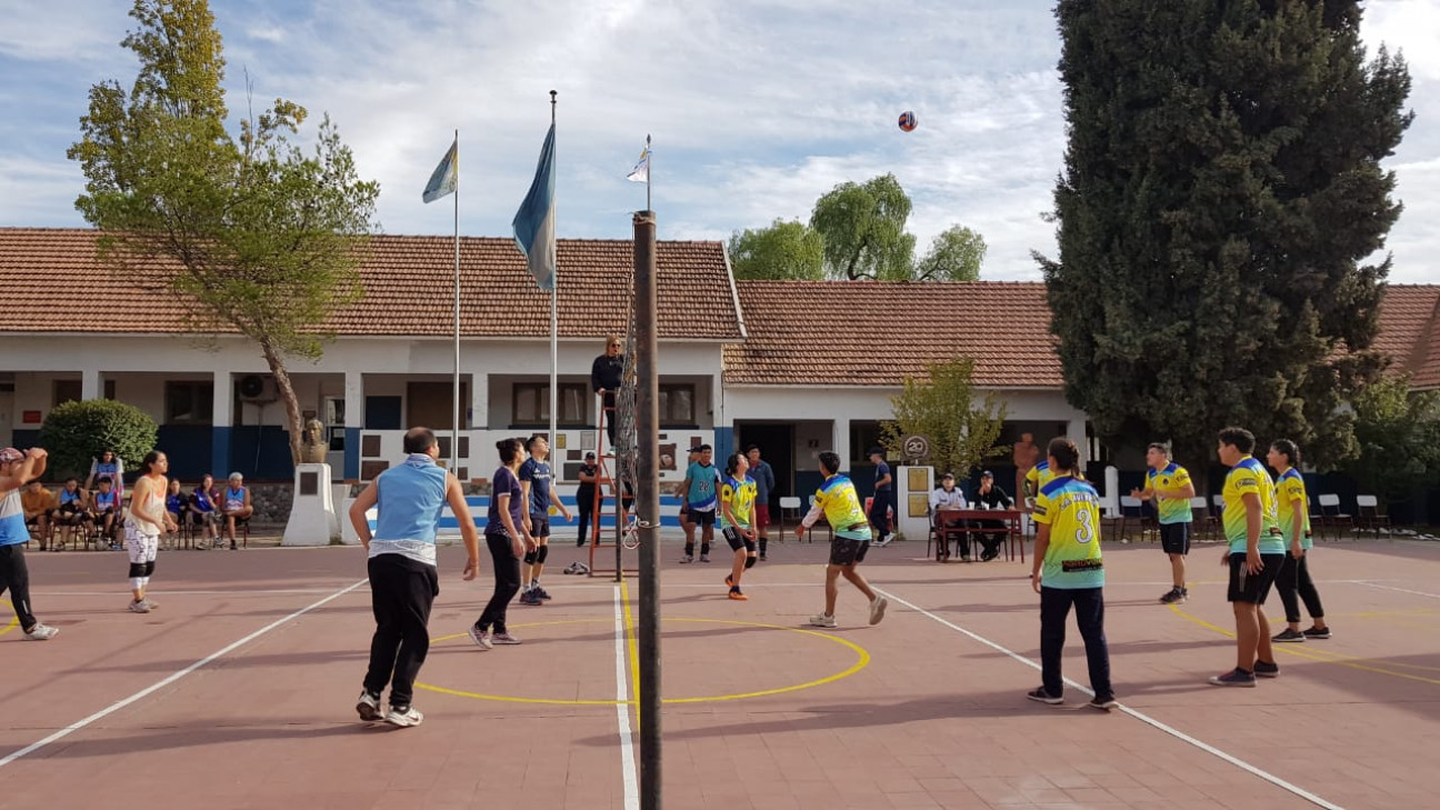
{"type": "Polygon", "coordinates": [[[914,270],[914,236],[906,233],[910,197],[894,174],[841,183],[815,202],[811,228],[825,241],[831,278],[900,281],[914,270]]]}

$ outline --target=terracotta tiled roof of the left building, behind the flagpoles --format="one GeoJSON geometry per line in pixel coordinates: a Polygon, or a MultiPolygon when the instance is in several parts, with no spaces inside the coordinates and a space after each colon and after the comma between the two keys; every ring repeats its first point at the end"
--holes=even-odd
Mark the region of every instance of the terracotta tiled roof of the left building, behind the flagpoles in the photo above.
{"type": "MultiPolygon", "coordinates": [[[[0,228],[0,331],[189,331],[184,301],[96,262],[96,236],[89,229],[0,228]],[[82,294],[58,298],[58,290],[82,294]]],[[[624,333],[632,244],[560,239],[556,254],[560,336],[624,333]]],[[[464,336],[549,336],[550,297],[526,272],[513,239],[461,236],[459,261],[464,336]]],[[[660,242],[657,262],[661,337],[743,339],[720,242],[660,242]]],[[[449,336],[454,268],[452,236],[374,236],[360,268],[364,298],[327,326],[341,336],[449,336]]]]}

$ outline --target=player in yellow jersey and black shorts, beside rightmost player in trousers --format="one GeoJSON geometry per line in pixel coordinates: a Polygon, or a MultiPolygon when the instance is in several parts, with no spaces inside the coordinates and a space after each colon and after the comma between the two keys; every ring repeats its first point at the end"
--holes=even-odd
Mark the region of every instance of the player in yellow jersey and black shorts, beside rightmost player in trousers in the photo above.
{"type": "Polygon", "coordinates": [[[1210,679],[1215,686],[1254,686],[1256,676],[1277,677],[1270,647],[1270,623],[1264,598],[1284,562],[1284,538],[1274,519],[1274,484],[1270,473],[1251,455],[1256,437],[1244,428],[1220,431],[1220,463],[1225,476],[1225,539],[1221,565],[1230,566],[1230,600],[1236,614],[1236,669],[1210,679]]]}

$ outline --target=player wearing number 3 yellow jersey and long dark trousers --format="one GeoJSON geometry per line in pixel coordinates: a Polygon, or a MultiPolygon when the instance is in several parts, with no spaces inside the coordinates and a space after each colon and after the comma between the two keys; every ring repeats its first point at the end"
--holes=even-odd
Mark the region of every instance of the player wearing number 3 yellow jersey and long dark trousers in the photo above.
{"type": "Polygon", "coordinates": [[[1040,594],[1041,686],[1025,693],[1041,703],[1064,703],[1060,653],[1066,646],[1066,618],[1076,608],[1084,638],[1090,689],[1096,709],[1113,709],[1110,649],[1104,641],[1104,564],[1100,561],[1100,496],[1080,477],[1080,450],[1064,437],[1045,450],[1051,479],[1035,496],[1038,526],[1031,585],[1040,594]]]}

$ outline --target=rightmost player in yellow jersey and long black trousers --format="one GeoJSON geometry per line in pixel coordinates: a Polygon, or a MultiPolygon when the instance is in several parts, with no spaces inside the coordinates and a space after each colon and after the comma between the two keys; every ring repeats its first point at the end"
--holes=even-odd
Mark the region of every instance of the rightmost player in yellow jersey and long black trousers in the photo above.
{"type": "Polygon", "coordinates": [[[1306,638],[1329,638],[1331,628],[1325,624],[1325,607],[1320,604],[1320,592],[1315,589],[1310,579],[1310,509],[1309,499],[1305,497],[1305,479],[1296,470],[1300,463],[1300,448],[1287,438],[1270,444],[1270,454],[1266,463],[1277,473],[1274,481],[1276,515],[1280,519],[1280,533],[1284,535],[1289,553],[1284,564],[1274,577],[1274,589],[1280,592],[1280,602],[1284,604],[1284,621],[1287,627],[1276,634],[1272,641],[1305,641],[1306,638]],[[1313,627],[1300,630],[1300,600],[1305,600],[1305,610],[1310,614],[1313,627]]]}

